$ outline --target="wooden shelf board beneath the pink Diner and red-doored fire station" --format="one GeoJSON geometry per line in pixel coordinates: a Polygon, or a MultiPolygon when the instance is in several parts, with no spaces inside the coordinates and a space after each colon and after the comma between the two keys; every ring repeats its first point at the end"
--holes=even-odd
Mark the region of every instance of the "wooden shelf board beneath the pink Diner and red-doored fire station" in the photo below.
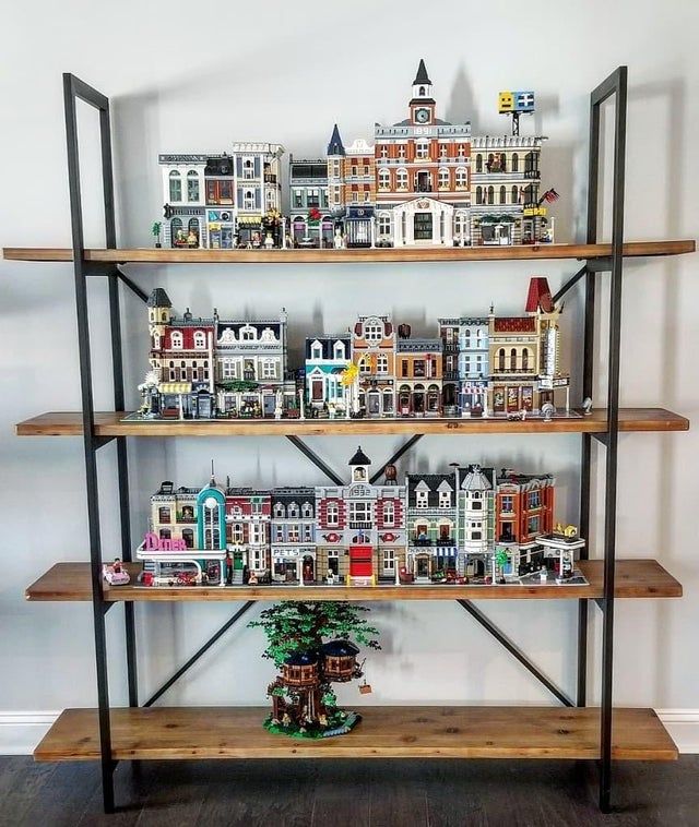
{"type": "MultiPolygon", "coordinates": [[[[131,580],[140,564],[129,564],[131,580]]],[[[235,600],[571,600],[603,595],[603,561],[582,560],[579,567],[588,586],[232,586],[227,588],[145,588],[105,584],[105,600],[118,601],[235,601],[235,600]]],[[[655,560],[619,560],[616,597],[682,597],[682,585],[655,560]]],[[[56,563],[25,591],[32,601],[92,599],[90,563],[56,563]]]]}

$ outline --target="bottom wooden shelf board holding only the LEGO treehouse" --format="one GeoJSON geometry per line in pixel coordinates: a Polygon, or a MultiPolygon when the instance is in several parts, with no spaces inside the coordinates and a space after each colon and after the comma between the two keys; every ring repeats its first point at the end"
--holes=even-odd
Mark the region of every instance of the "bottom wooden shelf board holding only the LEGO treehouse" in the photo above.
{"type": "MultiPolygon", "coordinates": [[[[358,707],[347,735],[310,741],[262,729],[266,708],[111,710],[111,754],[147,758],[599,758],[600,710],[588,707],[358,707]]],[[[652,709],[615,709],[613,757],[674,760],[652,709]]],[[[40,762],[99,758],[96,709],[67,709],[34,751],[40,762]]]]}

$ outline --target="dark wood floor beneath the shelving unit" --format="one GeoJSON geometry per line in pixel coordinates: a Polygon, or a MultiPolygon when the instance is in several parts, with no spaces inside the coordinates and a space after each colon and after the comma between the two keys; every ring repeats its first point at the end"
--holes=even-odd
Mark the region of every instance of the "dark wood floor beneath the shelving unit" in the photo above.
{"type": "Polygon", "coordinates": [[[115,781],[121,807],[105,816],[96,763],[0,757],[0,825],[699,826],[699,756],[618,764],[608,816],[576,762],[144,762],[115,781]]]}

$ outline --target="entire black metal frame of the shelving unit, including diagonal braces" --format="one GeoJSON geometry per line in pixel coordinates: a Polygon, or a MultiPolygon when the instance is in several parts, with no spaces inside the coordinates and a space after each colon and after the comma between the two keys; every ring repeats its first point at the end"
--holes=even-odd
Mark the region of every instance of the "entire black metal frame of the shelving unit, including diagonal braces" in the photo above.
{"type": "MultiPolygon", "coordinates": [[[[613,688],[613,645],[614,645],[614,566],[616,540],[616,478],[618,450],[618,398],[619,398],[619,349],[620,349],[620,310],[621,310],[621,273],[624,240],[624,181],[626,148],[626,100],[627,69],[619,67],[591,95],[590,106],[590,167],[588,191],[588,242],[597,240],[599,177],[600,177],[600,110],[609,97],[616,97],[615,144],[614,144],[614,191],[613,191],[613,229],[612,255],[589,261],[571,276],[554,297],[558,301],[579,281],[584,280],[584,348],[583,348],[583,396],[591,396],[594,375],[594,326],[595,326],[595,276],[599,272],[611,272],[611,308],[608,341],[608,421],[605,434],[595,435],[606,448],[606,486],[605,486],[605,526],[604,526],[604,596],[595,602],[603,613],[603,651],[602,651],[602,709],[600,727],[600,807],[609,812],[612,790],[612,688],[613,688]]],[[[131,531],[129,515],[129,475],[126,438],[103,439],[95,434],[94,400],[92,387],[92,365],[90,351],[90,322],[87,308],[86,277],[103,275],[109,279],[109,313],[112,352],[114,401],[115,410],[125,409],[125,391],[122,373],[122,346],[119,303],[119,283],[128,287],[142,301],[147,293],[142,290],[122,269],[121,265],[96,265],[85,259],[83,239],[83,216],[80,191],[80,165],[76,124],[76,101],[83,100],[99,111],[103,192],[105,206],[106,247],[116,248],[114,184],[111,168],[111,140],[109,125],[109,100],[96,89],[80,81],[72,74],[63,75],[63,98],[66,109],[66,135],[68,148],[68,172],[70,184],[70,209],[72,224],[73,267],[75,275],[75,308],[78,315],[78,341],[80,349],[81,395],[83,413],[83,442],[85,455],[86,500],[90,530],[90,559],[93,591],[93,620],[95,634],[95,660],[97,670],[97,696],[99,717],[99,741],[102,756],[102,789],[104,810],[114,812],[114,769],[117,762],[111,757],[111,733],[109,724],[109,687],[107,675],[107,650],[105,614],[112,603],[104,599],[102,585],[102,539],[99,527],[99,499],[97,479],[97,451],[116,439],[117,472],[119,481],[119,516],[121,528],[121,556],[131,560],[131,531]]],[[[289,442],[298,448],[335,484],[343,484],[330,466],[319,457],[298,436],[288,435],[289,442]]],[[[422,434],[411,436],[371,477],[376,482],[386,466],[396,462],[410,451],[422,434]]],[[[590,462],[592,455],[592,436],[582,434],[581,456],[581,534],[589,537],[590,531],[590,462]]],[[[587,549],[581,552],[588,556],[587,549]]],[[[470,600],[457,601],[469,614],[495,637],[517,660],[529,670],[565,706],[584,706],[587,702],[588,671],[588,600],[579,600],[578,618],[578,680],[576,702],[556,686],[529,658],[470,600]]],[[[125,602],[125,626],[127,643],[127,679],[129,705],[139,705],[138,671],[135,650],[134,604],[125,602]]],[[[199,649],[180,667],[145,703],[154,704],[167,690],[181,678],[221,637],[251,608],[248,601],[226,623],[218,628],[199,649]]]]}

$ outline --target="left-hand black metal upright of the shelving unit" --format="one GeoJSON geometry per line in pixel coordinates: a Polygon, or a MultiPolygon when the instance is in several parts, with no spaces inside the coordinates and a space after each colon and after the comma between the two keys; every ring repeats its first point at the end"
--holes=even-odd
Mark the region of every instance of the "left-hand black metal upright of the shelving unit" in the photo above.
{"type": "MultiPolygon", "coordinates": [[[[73,269],[75,277],[75,310],[78,316],[78,345],[80,351],[80,383],[82,396],[83,444],[85,455],[85,482],[87,494],[87,520],[90,530],[90,561],[92,580],[92,604],[95,634],[95,663],[97,672],[97,702],[99,718],[99,748],[102,757],[102,792],[106,813],[114,812],[114,769],[116,763],[111,757],[111,729],[109,722],[109,682],[107,673],[107,649],[105,614],[109,604],[104,599],[102,584],[102,537],[99,527],[99,494],[97,475],[97,450],[100,442],[95,435],[95,411],[92,386],[92,359],[90,352],[90,317],[87,308],[87,283],[90,265],[85,260],[83,237],[82,199],[80,188],[80,151],[78,144],[76,100],[83,100],[99,111],[99,131],[103,161],[103,194],[105,205],[105,232],[107,247],[116,247],[114,183],[111,177],[111,141],[109,134],[109,100],[96,89],[75,77],[63,74],[63,105],[66,112],[66,142],[68,154],[68,180],[70,188],[70,213],[72,227],[73,269]]],[[[111,319],[112,364],[115,373],[115,401],[123,406],[123,381],[121,379],[121,333],[119,327],[119,302],[116,276],[110,276],[109,303],[111,319]]],[[[130,539],[128,531],[128,488],[122,483],[127,476],[126,444],[118,447],[118,467],[120,482],[121,530],[123,556],[130,558],[130,539]],[[125,524],[126,516],[126,524],[125,524]],[[125,532],[126,529],[126,532],[125,532]],[[128,546],[127,546],[128,542],[128,546]],[[128,551],[127,551],[128,549],[128,551]]],[[[131,613],[131,624],[133,615],[131,613]]],[[[129,614],[127,613],[127,635],[129,634],[129,614]]],[[[131,637],[130,647],[133,647],[131,637]]],[[[129,664],[131,666],[131,664],[129,664]]],[[[135,672],[129,673],[135,685],[135,672]]]]}

